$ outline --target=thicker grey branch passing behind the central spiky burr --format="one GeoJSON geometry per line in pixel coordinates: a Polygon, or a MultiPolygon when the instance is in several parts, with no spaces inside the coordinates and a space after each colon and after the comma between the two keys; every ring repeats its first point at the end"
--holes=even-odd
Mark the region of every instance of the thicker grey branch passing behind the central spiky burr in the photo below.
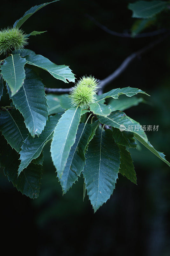
{"type": "MultiPolygon", "coordinates": [[[[132,53],[130,56],[128,56],[122,62],[122,64],[112,74],[110,74],[103,80],[98,80],[99,85],[100,85],[100,90],[98,91],[98,95],[101,95],[103,93],[103,89],[105,88],[105,86],[107,84],[111,83],[113,80],[115,80],[118,76],[120,76],[133,60],[135,60],[137,57],[140,57],[143,53],[152,49],[155,45],[161,43],[168,36],[170,36],[170,32],[167,33],[166,35],[162,36],[161,38],[153,41],[152,43],[150,43],[149,45],[140,49],[139,51],[132,53]]],[[[63,88],[47,88],[47,87],[45,87],[46,93],[67,93],[67,92],[70,92],[71,90],[72,90],[72,87],[66,88],[66,89],[65,88],[63,89],[63,88]]]]}

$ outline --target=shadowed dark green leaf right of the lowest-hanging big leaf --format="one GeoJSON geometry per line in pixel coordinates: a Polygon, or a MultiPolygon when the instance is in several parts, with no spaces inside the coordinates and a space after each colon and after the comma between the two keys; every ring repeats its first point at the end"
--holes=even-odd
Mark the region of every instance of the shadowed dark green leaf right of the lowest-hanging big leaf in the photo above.
{"type": "Polygon", "coordinates": [[[131,182],[136,183],[136,172],[131,159],[131,154],[125,147],[119,145],[120,148],[120,169],[119,172],[131,182]]]}

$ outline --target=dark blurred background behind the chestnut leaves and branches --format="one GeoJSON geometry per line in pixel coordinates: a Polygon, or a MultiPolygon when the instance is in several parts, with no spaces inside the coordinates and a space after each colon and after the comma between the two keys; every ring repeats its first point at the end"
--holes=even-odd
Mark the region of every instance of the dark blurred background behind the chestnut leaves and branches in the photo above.
{"type": "MultiPolygon", "coordinates": [[[[134,1],[131,1],[134,2],[134,1]]],[[[42,1],[1,2],[0,27],[11,26],[25,11],[42,1]]],[[[135,19],[127,9],[129,1],[61,0],[36,12],[23,29],[48,32],[32,36],[27,48],[56,64],[69,65],[76,77],[94,75],[103,79],[132,52],[156,38],[111,36],[90,21],[88,13],[117,32],[131,28],[135,19]]],[[[147,31],[169,27],[169,14],[147,31]]],[[[169,95],[170,39],[129,65],[105,91],[118,87],[137,87],[152,97],[148,104],[125,111],[142,125],[159,125],[158,132],[147,132],[148,139],[170,160],[169,95]]],[[[47,87],[70,87],[39,70],[47,87]]],[[[1,104],[5,104],[5,96],[1,104]]],[[[30,255],[170,255],[170,170],[149,150],[132,150],[138,186],[119,175],[110,200],[95,214],[88,198],[82,202],[83,180],[62,196],[49,145],[38,199],[22,196],[1,170],[1,251],[30,255]]],[[[10,161],[10,159],[9,159],[10,161]]]]}

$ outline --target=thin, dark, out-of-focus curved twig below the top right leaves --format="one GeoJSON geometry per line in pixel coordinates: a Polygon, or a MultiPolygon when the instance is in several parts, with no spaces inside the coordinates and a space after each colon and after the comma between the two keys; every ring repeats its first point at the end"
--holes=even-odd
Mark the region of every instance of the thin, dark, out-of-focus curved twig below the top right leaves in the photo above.
{"type": "MultiPolygon", "coordinates": [[[[103,29],[105,32],[109,33],[112,36],[133,38],[131,36],[131,33],[119,33],[119,32],[116,32],[116,31],[112,31],[109,28],[107,28],[106,26],[102,25],[97,20],[95,20],[95,18],[93,18],[89,14],[85,14],[85,16],[88,17],[89,20],[93,21],[96,24],[97,27],[103,29]]],[[[166,28],[161,28],[161,29],[158,29],[158,30],[155,30],[155,31],[152,31],[152,32],[140,33],[140,34],[136,35],[134,38],[157,36],[157,35],[160,35],[160,34],[163,34],[163,33],[167,32],[167,31],[168,30],[166,28]]]]}

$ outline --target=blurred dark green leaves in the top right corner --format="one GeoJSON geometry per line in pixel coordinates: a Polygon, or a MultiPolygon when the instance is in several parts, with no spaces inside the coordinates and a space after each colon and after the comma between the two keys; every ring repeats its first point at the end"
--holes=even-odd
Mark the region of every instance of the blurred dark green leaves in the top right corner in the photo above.
{"type": "Polygon", "coordinates": [[[169,4],[169,1],[161,0],[139,0],[133,4],[129,4],[128,8],[132,11],[132,17],[138,18],[132,25],[132,36],[135,37],[144,29],[156,25],[157,14],[169,10],[169,4]]]}

